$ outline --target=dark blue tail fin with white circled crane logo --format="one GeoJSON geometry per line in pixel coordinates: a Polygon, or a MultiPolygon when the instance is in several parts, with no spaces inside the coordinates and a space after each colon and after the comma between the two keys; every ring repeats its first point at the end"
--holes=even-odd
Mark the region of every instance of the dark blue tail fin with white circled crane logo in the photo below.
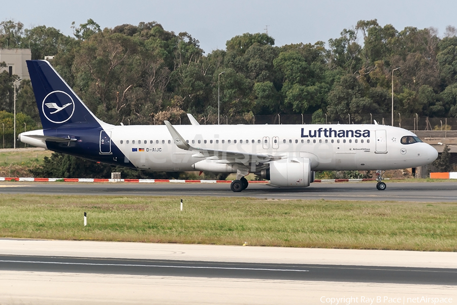
{"type": "Polygon", "coordinates": [[[46,60],[26,62],[43,129],[71,123],[99,127],[103,123],[46,60]]]}

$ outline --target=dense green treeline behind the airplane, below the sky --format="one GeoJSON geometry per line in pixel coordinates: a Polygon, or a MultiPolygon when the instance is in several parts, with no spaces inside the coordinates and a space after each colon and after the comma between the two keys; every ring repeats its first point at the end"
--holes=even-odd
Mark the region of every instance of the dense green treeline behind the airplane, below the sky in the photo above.
{"type": "MultiPolygon", "coordinates": [[[[398,31],[376,20],[358,21],[327,44],[275,46],[267,34],[243,34],[225,50],[204,54],[188,33],[156,22],[101,27],[89,19],[74,37],[57,29],[24,29],[0,23],[0,47],[30,47],[32,59],[55,55],[52,64],[89,108],[111,124],[162,124],[185,112],[217,121],[221,114],[312,114],[313,122],[390,117],[392,70],[395,112],[408,116],[457,116],[457,31],[443,38],[433,28],[398,31]],[[220,74],[224,72],[223,74],[220,74]]],[[[0,76],[2,110],[11,111],[11,80],[0,76]]],[[[38,121],[29,82],[18,109],[38,121]]]]}

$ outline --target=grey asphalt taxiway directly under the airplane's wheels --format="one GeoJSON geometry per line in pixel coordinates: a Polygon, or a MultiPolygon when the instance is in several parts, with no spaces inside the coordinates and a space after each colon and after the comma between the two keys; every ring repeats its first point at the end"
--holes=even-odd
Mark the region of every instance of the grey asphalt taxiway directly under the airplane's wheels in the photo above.
{"type": "Polygon", "coordinates": [[[217,196],[254,197],[267,199],[380,200],[415,202],[457,201],[457,181],[391,182],[378,191],[374,182],[313,183],[308,188],[273,188],[251,184],[240,193],[230,190],[230,184],[132,184],[132,183],[71,183],[71,182],[1,182],[3,194],[68,194],[68,195],[135,195],[135,196],[217,196]]]}

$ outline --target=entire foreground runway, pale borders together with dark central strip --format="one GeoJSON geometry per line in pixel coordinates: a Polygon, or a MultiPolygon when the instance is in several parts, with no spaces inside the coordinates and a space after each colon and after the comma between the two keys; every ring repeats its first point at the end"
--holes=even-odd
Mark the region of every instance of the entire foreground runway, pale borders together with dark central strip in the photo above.
{"type": "Polygon", "coordinates": [[[1,304],[457,303],[456,274],[449,252],[0,239],[1,304]]]}

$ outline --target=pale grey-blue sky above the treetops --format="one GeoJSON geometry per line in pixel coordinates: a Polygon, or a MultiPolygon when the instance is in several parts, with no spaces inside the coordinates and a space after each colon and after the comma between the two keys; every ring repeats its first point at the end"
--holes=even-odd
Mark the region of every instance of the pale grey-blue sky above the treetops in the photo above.
{"type": "Polygon", "coordinates": [[[0,0],[0,21],[20,21],[26,28],[52,26],[73,36],[76,25],[92,18],[102,28],[156,21],[166,31],[187,32],[208,54],[244,33],[265,33],[276,46],[328,42],[358,20],[377,19],[398,31],[406,26],[434,27],[442,37],[457,27],[455,0],[0,0]]]}

